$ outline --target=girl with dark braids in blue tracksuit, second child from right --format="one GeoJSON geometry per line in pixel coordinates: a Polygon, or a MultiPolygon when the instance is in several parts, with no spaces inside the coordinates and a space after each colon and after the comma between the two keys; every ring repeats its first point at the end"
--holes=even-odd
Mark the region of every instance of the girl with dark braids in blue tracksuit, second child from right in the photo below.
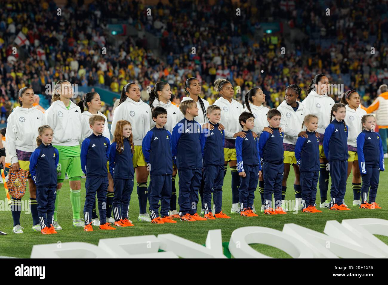
{"type": "Polygon", "coordinates": [[[323,149],[329,161],[331,176],[330,209],[350,210],[343,198],[346,191],[346,174],[348,173],[348,126],[345,123],[345,104],[336,103],[331,108],[330,124],[327,126],[323,149]],[[334,120],[332,120],[334,117],[334,120]]]}

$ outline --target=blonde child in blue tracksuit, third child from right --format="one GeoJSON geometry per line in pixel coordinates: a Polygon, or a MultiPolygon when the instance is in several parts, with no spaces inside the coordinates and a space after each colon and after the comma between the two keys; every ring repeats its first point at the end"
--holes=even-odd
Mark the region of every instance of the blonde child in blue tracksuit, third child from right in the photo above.
{"type": "Polygon", "coordinates": [[[312,114],[305,116],[303,125],[307,128],[305,132],[307,138],[300,136],[295,144],[296,165],[299,166],[302,188],[302,211],[319,213],[322,211],[315,207],[320,170],[319,138],[315,135],[318,128],[318,117],[312,114]]]}

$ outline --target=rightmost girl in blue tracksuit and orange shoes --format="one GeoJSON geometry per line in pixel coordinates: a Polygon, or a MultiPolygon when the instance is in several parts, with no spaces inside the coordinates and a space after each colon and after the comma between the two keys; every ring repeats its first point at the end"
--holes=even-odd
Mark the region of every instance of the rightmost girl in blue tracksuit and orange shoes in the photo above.
{"type": "Polygon", "coordinates": [[[376,120],[373,115],[364,115],[361,123],[364,130],[357,136],[357,155],[362,178],[360,208],[381,209],[375,201],[379,186],[379,171],[385,170],[383,142],[379,133],[374,132],[376,120]]]}

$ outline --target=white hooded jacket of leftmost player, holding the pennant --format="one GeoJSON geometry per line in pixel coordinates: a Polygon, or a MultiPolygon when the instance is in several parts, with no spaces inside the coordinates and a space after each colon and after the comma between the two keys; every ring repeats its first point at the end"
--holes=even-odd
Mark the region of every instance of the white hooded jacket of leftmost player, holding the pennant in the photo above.
{"type": "Polygon", "coordinates": [[[16,149],[26,152],[33,152],[36,149],[38,128],[45,125],[45,122],[45,115],[34,107],[16,107],[12,111],[5,131],[11,164],[18,162],[16,149]]]}

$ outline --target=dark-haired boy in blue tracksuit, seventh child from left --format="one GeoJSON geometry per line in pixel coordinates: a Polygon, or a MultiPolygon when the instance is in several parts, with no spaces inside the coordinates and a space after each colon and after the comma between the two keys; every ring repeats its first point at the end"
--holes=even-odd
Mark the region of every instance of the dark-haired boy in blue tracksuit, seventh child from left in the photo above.
{"type": "Polygon", "coordinates": [[[237,170],[240,176],[239,206],[240,215],[244,217],[258,216],[251,209],[257,183],[262,176],[259,143],[251,131],[255,126],[254,120],[255,116],[252,113],[242,112],[239,123],[246,136],[236,138],[237,170]]]}

